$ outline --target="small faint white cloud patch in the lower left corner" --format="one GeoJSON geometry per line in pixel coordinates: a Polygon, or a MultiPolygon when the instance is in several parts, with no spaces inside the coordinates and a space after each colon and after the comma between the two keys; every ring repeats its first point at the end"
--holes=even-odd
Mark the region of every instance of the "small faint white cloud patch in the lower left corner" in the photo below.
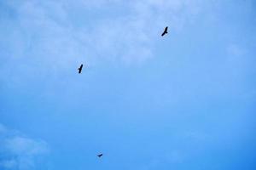
{"type": "Polygon", "coordinates": [[[49,152],[43,140],[27,138],[0,124],[0,167],[4,170],[30,170],[41,163],[38,158],[49,152]]]}

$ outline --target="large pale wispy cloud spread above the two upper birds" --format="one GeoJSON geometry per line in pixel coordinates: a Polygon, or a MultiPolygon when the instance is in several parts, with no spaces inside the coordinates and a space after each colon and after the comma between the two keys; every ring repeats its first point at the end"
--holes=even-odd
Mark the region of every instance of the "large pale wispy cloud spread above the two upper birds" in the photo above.
{"type": "Polygon", "coordinates": [[[5,49],[15,59],[34,59],[35,63],[50,65],[52,69],[67,67],[77,60],[134,65],[154,57],[154,39],[162,28],[181,29],[198,14],[201,2],[7,2],[5,7],[9,7],[13,17],[1,19],[2,24],[11,23],[7,27],[5,49]],[[119,11],[119,15],[113,15],[111,10],[119,11]],[[12,50],[16,48],[19,50],[12,50]]]}

